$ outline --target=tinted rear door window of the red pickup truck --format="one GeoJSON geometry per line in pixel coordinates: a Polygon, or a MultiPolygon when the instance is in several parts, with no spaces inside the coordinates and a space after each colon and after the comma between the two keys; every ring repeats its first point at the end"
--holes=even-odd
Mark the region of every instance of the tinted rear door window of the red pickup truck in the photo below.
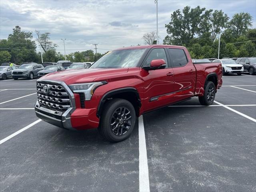
{"type": "Polygon", "coordinates": [[[172,60],[172,67],[182,67],[188,63],[186,54],[183,49],[169,48],[168,52],[172,60]]]}

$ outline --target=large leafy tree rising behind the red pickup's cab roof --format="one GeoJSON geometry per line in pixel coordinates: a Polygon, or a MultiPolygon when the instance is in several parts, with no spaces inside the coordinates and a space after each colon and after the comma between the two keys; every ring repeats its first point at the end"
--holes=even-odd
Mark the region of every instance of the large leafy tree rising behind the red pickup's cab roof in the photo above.
{"type": "Polygon", "coordinates": [[[184,7],[182,13],[176,10],[171,14],[171,21],[166,24],[167,36],[164,39],[165,44],[188,44],[196,34],[200,34],[199,28],[204,18],[205,8],[190,9],[190,6],[184,7]]]}

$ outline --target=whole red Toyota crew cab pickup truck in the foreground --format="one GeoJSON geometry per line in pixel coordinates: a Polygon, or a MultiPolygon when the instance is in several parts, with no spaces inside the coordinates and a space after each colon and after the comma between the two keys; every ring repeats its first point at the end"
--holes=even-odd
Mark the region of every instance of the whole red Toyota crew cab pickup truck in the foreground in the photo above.
{"type": "Polygon", "coordinates": [[[35,111],[58,127],[98,128],[118,142],[130,136],[141,114],[193,96],[211,105],[221,85],[221,64],[193,64],[185,47],[131,46],[108,52],[88,69],[38,79],[35,111]]]}

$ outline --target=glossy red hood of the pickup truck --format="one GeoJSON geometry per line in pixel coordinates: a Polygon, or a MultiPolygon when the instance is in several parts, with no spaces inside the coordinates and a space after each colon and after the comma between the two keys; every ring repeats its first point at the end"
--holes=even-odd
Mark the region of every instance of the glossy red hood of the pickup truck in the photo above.
{"type": "Polygon", "coordinates": [[[87,83],[93,82],[98,77],[108,78],[110,75],[121,74],[128,72],[128,68],[118,68],[118,69],[99,69],[99,68],[88,68],[80,70],[65,70],[60,72],[54,72],[47,74],[40,78],[41,80],[58,80],[64,81],[66,84],[76,84],[76,83],[87,83]]]}

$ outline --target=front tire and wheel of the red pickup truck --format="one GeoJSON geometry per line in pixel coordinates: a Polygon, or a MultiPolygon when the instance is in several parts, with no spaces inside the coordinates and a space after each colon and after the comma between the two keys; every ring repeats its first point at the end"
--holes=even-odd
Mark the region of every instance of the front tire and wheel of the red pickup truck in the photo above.
{"type": "Polygon", "coordinates": [[[129,101],[112,99],[104,105],[102,114],[98,130],[106,140],[120,142],[130,137],[134,129],[136,114],[129,101]]]}

